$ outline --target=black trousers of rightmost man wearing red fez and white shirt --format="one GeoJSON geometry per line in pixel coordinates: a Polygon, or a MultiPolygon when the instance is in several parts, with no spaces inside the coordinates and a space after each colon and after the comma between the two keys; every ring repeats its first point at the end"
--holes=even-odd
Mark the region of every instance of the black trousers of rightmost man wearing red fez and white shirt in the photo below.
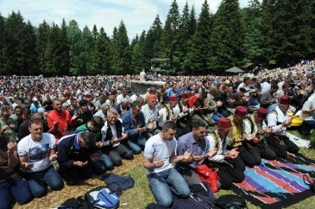
{"type": "Polygon", "coordinates": [[[271,135],[266,140],[270,149],[276,153],[276,157],[286,158],[286,152],[299,152],[299,147],[286,136],[271,135]]]}

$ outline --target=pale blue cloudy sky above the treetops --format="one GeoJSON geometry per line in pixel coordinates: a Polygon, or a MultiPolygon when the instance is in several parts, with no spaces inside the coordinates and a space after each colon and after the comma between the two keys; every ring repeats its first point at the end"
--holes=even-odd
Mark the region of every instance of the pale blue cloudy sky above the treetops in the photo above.
{"type": "MultiPolygon", "coordinates": [[[[160,15],[162,23],[173,0],[0,0],[1,15],[7,17],[13,10],[22,13],[25,21],[30,20],[34,27],[46,20],[48,24],[61,24],[62,18],[69,23],[76,20],[80,29],[85,25],[92,30],[104,27],[111,36],[113,27],[118,27],[120,20],[125,22],[130,39],[142,30],[148,30],[156,15],[160,15]]],[[[195,6],[197,15],[204,0],[177,0],[180,12],[186,1],[195,6]]],[[[218,10],[221,0],[208,0],[212,13],[218,10]]],[[[241,8],[248,5],[248,0],[239,0],[241,8]]]]}

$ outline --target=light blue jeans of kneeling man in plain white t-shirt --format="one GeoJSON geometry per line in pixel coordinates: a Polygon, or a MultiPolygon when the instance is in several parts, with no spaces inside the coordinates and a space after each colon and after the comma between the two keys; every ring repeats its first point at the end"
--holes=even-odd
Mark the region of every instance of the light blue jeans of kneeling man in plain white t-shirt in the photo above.
{"type": "Polygon", "coordinates": [[[148,182],[156,202],[165,208],[172,206],[172,193],[184,198],[190,195],[186,181],[175,168],[149,174],[148,182]]]}

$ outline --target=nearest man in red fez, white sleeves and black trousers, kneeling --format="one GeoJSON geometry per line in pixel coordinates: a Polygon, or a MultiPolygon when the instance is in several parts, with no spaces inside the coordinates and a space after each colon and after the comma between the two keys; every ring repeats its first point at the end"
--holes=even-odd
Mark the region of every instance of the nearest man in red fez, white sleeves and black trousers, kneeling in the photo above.
{"type": "Polygon", "coordinates": [[[221,189],[230,189],[233,182],[244,180],[245,166],[237,148],[227,150],[228,135],[231,131],[231,122],[226,117],[221,117],[218,121],[218,129],[214,134],[207,136],[209,140],[209,150],[217,149],[213,157],[209,157],[209,166],[218,168],[221,189]]]}

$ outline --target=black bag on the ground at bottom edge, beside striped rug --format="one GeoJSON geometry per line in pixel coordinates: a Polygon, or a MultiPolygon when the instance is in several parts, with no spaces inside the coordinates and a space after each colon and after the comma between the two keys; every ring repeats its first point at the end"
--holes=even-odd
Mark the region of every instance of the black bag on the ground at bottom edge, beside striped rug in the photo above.
{"type": "Polygon", "coordinates": [[[212,207],[214,209],[241,209],[247,208],[246,201],[241,196],[227,194],[220,196],[212,207]]]}

